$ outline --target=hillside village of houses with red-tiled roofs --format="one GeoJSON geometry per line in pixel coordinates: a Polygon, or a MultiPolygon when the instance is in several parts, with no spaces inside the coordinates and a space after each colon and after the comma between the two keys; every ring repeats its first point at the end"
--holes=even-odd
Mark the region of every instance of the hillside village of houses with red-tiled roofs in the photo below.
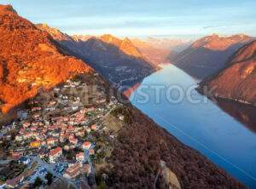
{"type": "MultiPolygon", "coordinates": [[[[102,120],[122,104],[100,89],[79,95],[89,88],[79,79],[67,80],[30,100],[19,120],[3,127],[0,145],[8,152],[0,160],[0,188],[34,188],[53,180],[73,188],[96,185],[94,165],[104,162],[115,138],[114,132],[100,135],[108,130],[102,120]]],[[[124,121],[123,115],[117,118],[124,121]]]]}

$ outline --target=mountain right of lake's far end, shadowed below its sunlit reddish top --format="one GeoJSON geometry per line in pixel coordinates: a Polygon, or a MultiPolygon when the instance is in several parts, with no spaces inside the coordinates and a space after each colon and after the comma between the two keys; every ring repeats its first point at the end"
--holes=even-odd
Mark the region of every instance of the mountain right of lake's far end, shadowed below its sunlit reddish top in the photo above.
{"type": "Polygon", "coordinates": [[[223,36],[212,34],[195,41],[188,49],[171,55],[172,64],[192,77],[203,79],[224,66],[236,49],[253,41],[253,37],[239,34],[223,36]]]}

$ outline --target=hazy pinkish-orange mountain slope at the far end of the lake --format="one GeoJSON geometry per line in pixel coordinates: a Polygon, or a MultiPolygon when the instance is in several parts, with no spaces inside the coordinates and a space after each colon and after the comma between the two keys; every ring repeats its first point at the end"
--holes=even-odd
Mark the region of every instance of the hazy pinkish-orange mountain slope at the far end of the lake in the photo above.
{"type": "Polygon", "coordinates": [[[144,57],[154,63],[154,65],[159,65],[160,63],[166,63],[166,58],[171,54],[169,49],[156,49],[148,45],[148,43],[134,38],[131,43],[139,50],[144,57]]]}

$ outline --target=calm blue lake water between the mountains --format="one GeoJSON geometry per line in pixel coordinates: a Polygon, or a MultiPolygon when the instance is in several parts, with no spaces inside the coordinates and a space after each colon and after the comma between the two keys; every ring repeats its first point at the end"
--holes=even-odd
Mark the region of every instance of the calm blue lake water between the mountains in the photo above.
{"type": "Polygon", "coordinates": [[[144,78],[130,100],[178,140],[256,188],[256,134],[195,87],[196,81],[187,73],[166,65],[144,78]]]}

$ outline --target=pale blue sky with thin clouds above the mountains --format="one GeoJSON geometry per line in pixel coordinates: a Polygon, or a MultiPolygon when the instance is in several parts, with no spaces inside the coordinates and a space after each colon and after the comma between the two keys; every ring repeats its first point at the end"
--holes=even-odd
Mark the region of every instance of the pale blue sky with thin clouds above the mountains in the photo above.
{"type": "Polygon", "coordinates": [[[69,35],[196,39],[256,37],[255,0],[1,0],[20,16],[69,35]]]}

